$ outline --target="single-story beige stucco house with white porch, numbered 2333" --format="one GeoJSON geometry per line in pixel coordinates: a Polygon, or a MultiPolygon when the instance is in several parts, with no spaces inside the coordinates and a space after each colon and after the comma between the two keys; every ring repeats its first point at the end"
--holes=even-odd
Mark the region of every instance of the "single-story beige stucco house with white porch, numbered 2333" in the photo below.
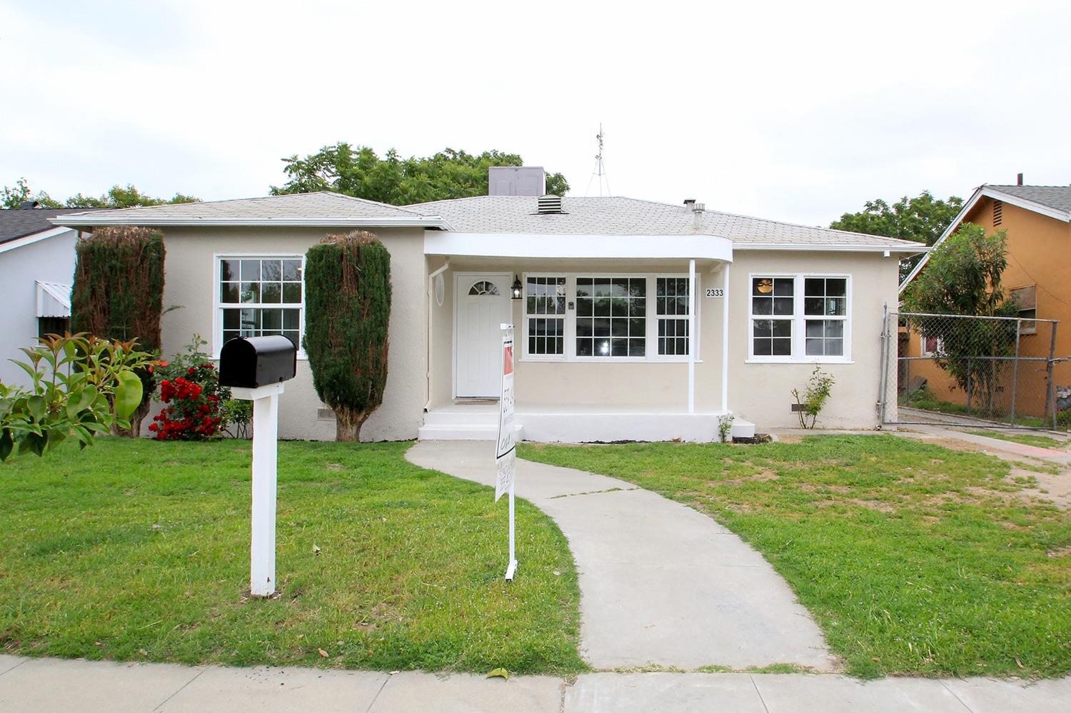
{"type": "MultiPolygon", "coordinates": [[[[165,354],[199,333],[302,332],[302,257],[364,229],[391,253],[389,377],[366,440],[494,438],[500,324],[515,325],[516,423],[545,441],[718,439],[796,423],[814,365],[820,424],[877,425],[881,315],[918,243],[632,198],[489,195],[403,208],[334,193],[157,206],[58,225],[159,227],[165,354]],[[514,294],[514,287],[516,293],[514,294]]],[[[284,438],[334,438],[307,361],[284,438]]]]}

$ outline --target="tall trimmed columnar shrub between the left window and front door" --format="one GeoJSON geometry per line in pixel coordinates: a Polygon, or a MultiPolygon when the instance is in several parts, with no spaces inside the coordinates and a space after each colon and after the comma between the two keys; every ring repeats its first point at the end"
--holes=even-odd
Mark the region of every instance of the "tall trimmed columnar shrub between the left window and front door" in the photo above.
{"type": "Polygon", "coordinates": [[[303,345],[340,441],[359,441],[383,403],[390,316],[391,256],[376,236],[328,236],[308,251],[303,345]]]}

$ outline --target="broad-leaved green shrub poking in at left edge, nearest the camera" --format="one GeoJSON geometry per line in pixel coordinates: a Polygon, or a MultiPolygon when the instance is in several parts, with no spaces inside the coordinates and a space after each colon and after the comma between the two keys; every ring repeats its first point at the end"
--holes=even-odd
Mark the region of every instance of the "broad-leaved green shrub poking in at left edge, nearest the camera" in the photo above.
{"type": "Polygon", "coordinates": [[[154,364],[136,342],[87,334],[46,336],[21,351],[28,361],[13,361],[30,386],[0,383],[0,460],[16,449],[44,455],[70,436],[85,447],[96,434],[129,428],[142,397],[136,370],[154,364]]]}

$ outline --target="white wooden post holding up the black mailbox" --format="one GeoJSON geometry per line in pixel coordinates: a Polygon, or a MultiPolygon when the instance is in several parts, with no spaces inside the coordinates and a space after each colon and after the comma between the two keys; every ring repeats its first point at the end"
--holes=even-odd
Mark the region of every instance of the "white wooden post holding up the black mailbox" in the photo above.
{"type": "Polygon", "coordinates": [[[278,491],[278,395],[282,383],[257,389],[233,386],[231,396],[253,401],[253,541],[250,593],[275,593],[275,499],[278,491]]]}

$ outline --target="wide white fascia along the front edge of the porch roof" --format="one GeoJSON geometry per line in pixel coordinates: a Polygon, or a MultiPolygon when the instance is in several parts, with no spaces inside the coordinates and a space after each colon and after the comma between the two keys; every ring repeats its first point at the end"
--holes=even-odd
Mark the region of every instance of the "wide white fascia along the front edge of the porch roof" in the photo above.
{"type": "Polygon", "coordinates": [[[424,255],[509,258],[643,258],[733,261],[733,241],[718,236],[589,236],[424,231],[424,255]]]}

